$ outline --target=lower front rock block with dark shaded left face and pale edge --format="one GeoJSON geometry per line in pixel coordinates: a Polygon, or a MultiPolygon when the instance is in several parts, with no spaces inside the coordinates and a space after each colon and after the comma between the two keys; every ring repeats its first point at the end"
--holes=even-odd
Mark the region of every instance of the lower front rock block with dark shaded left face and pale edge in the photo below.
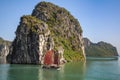
{"type": "Polygon", "coordinates": [[[43,53],[54,46],[47,24],[32,16],[23,16],[16,31],[10,63],[39,64],[43,53]]]}

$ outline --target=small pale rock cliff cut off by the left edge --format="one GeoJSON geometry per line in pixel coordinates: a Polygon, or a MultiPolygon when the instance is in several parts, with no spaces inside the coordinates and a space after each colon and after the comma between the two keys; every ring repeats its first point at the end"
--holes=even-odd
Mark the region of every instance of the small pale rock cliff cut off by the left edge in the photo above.
{"type": "Polygon", "coordinates": [[[9,53],[11,42],[0,38],[0,63],[6,63],[6,56],[9,53]]]}

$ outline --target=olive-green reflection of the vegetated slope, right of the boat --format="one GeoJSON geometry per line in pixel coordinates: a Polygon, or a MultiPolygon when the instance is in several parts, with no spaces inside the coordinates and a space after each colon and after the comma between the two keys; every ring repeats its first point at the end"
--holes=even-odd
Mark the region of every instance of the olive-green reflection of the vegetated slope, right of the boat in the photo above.
{"type": "Polygon", "coordinates": [[[64,67],[61,80],[84,80],[86,71],[85,63],[68,63],[64,67]]]}

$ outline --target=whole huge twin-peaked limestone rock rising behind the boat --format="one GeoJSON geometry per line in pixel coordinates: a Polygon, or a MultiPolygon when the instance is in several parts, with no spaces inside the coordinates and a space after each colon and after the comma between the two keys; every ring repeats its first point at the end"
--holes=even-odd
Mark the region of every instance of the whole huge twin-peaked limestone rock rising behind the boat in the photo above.
{"type": "Polygon", "coordinates": [[[85,61],[78,20],[64,8],[40,2],[32,15],[21,17],[7,59],[10,63],[41,64],[48,50],[60,52],[59,47],[67,61],[85,61]]]}

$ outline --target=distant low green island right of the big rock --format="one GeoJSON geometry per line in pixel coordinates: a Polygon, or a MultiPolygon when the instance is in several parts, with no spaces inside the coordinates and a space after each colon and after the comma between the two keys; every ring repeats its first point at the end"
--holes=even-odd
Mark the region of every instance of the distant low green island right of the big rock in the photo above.
{"type": "Polygon", "coordinates": [[[84,38],[85,52],[88,57],[114,57],[118,56],[117,49],[106,42],[92,43],[84,38]]]}

